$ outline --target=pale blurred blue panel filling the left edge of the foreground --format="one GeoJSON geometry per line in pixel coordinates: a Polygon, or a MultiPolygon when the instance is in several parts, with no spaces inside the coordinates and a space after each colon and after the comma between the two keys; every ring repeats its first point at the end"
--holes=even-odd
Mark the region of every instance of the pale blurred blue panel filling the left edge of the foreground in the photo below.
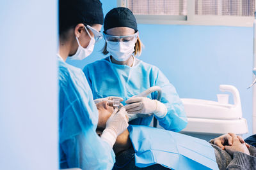
{"type": "Polygon", "coordinates": [[[58,169],[57,1],[0,1],[0,169],[58,169]]]}

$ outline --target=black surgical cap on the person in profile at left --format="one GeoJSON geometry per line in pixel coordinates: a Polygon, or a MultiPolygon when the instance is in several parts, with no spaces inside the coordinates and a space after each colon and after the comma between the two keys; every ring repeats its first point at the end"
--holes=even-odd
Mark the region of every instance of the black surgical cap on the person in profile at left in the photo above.
{"type": "Polygon", "coordinates": [[[99,0],[59,0],[60,34],[77,24],[102,25],[102,3],[99,0]]]}

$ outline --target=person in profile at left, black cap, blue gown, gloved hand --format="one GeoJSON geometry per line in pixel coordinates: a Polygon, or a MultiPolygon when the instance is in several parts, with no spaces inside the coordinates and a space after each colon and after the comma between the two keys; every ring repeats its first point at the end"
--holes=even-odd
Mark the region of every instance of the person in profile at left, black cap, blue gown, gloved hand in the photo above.
{"type": "Polygon", "coordinates": [[[103,24],[99,0],[59,1],[59,150],[60,168],[112,169],[113,145],[128,126],[125,110],[115,110],[99,137],[98,111],[81,69],[65,62],[93,51],[103,24]]]}

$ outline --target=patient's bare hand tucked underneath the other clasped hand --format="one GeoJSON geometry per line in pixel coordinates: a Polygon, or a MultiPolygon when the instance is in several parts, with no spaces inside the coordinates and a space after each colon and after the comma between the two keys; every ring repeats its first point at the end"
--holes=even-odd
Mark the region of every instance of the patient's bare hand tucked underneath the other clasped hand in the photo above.
{"type": "MultiPolygon", "coordinates": [[[[225,145],[232,145],[233,144],[233,138],[232,136],[236,136],[236,134],[233,133],[228,133],[228,134],[223,134],[218,138],[211,139],[210,143],[219,146],[222,150],[225,150],[225,145]]],[[[247,148],[250,148],[250,145],[244,142],[244,139],[241,138],[241,136],[236,136],[240,143],[244,143],[247,148]]]]}

